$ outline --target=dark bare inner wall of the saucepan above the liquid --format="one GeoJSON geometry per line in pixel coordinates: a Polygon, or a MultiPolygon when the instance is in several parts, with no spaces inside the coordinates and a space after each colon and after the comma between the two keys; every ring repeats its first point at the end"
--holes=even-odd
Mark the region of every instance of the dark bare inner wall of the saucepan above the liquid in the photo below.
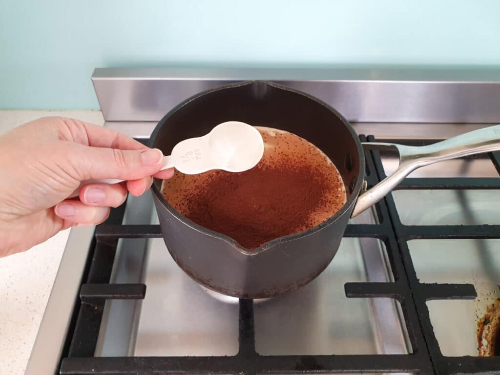
{"type": "MultiPolygon", "coordinates": [[[[169,154],[177,142],[206,134],[218,123],[229,120],[286,130],[313,143],[341,175],[347,195],[344,207],[356,198],[362,167],[360,146],[347,121],[308,95],[268,82],[212,90],[181,104],[159,122],[152,146],[169,154]]],[[[161,180],[154,183],[156,194],[161,195],[161,180]]]]}

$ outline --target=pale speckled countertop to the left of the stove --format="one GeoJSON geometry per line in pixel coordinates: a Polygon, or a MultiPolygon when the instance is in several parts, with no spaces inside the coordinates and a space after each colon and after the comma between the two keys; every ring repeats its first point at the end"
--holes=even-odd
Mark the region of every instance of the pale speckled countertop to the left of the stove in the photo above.
{"type": "MultiPolygon", "coordinates": [[[[42,116],[102,125],[100,111],[0,110],[0,133],[42,116]]],[[[0,258],[0,373],[24,373],[66,244],[64,230],[30,250],[0,258]]]]}

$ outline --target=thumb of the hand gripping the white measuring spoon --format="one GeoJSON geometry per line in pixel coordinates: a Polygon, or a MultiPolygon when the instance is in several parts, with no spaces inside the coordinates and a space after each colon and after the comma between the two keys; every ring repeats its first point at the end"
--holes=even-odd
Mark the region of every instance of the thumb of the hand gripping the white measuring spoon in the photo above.
{"type": "Polygon", "coordinates": [[[71,164],[80,181],[97,178],[139,179],[158,172],[163,161],[163,153],[157,148],[123,150],[78,145],[71,154],[71,164]]]}

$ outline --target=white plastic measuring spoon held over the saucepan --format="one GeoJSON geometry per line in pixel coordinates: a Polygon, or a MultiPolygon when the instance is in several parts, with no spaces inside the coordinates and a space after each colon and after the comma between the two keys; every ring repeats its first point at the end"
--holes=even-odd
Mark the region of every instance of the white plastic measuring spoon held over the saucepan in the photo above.
{"type": "MultiPolygon", "coordinates": [[[[185,174],[197,174],[211,169],[242,172],[253,168],[262,158],[264,141],[256,128],[240,121],[219,123],[208,134],[178,142],[172,153],[163,156],[160,170],[175,167],[185,174]]],[[[122,179],[104,178],[81,182],[69,197],[77,196],[89,183],[118,183],[122,179]]]]}

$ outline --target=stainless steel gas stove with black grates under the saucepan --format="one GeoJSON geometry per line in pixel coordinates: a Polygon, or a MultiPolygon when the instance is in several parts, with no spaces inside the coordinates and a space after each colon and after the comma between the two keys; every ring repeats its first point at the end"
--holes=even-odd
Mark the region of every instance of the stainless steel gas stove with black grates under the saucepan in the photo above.
{"type": "MultiPolygon", "coordinates": [[[[500,77],[483,71],[95,69],[92,79],[105,126],[141,141],[183,99],[247,79],[325,100],[363,141],[428,144],[500,122],[500,77]]],[[[365,156],[368,185],[397,166],[390,153],[365,156]]],[[[316,279],[265,300],[190,279],[151,196],[130,196],[103,224],[71,229],[25,373],[500,372],[499,358],[477,356],[478,319],[500,297],[499,172],[499,153],[414,171],[350,220],[316,279]]]]}

